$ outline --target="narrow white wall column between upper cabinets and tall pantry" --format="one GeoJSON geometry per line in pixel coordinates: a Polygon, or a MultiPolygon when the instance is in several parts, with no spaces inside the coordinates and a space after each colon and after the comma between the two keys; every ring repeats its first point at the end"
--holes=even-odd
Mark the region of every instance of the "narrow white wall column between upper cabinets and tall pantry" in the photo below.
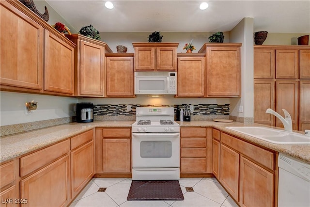
{"type": "Polygon", "coordinates": [[[231,115],[254,117],[253,18],[243,18],[231,31],[231,41],[241,42],[241,98],[231,98],[231,115]],[[237,112],[243,106],[244,112],[237,112]]]}

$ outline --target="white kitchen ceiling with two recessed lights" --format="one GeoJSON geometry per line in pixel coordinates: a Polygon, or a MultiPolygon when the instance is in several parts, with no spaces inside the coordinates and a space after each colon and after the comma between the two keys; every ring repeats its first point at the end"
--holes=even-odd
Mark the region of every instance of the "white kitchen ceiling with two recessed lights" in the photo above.
{"type": "Polygon", "coordinates": [[[46,0],[76,31],[92,24],[99,32],[229,32],[244,17],[254,32],[310,33],[310,0],[46,0]]]}

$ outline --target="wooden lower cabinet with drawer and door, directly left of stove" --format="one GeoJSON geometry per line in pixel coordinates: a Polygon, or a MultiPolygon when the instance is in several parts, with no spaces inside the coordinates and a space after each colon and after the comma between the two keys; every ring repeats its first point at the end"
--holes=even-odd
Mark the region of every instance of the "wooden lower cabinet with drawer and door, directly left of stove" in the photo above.
{"type": "Polygon", "coordinates": [[[96,176],[131,174],[131,128],[95,130],[96,176]]]}

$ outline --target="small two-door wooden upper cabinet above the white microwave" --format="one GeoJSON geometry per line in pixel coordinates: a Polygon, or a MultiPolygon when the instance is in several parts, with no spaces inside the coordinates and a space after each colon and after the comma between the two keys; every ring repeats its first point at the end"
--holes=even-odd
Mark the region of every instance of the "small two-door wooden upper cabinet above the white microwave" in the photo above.
{"type": "Polygon", "coordinates": [[[135,49],[135,71],[176,70],[179,43],[132,43],[135,49]]]}

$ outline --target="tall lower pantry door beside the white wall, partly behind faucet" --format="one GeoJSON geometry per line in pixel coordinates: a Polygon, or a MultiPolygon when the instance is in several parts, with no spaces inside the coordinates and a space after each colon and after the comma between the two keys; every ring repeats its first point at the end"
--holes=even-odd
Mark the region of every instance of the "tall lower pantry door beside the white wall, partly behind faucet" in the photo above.
{"type": "Polygon", "coordinates": [[[275,116],[266,113],[274,106],[275,81],[254,80],[254,123],[274,126],[275,116]]]}

